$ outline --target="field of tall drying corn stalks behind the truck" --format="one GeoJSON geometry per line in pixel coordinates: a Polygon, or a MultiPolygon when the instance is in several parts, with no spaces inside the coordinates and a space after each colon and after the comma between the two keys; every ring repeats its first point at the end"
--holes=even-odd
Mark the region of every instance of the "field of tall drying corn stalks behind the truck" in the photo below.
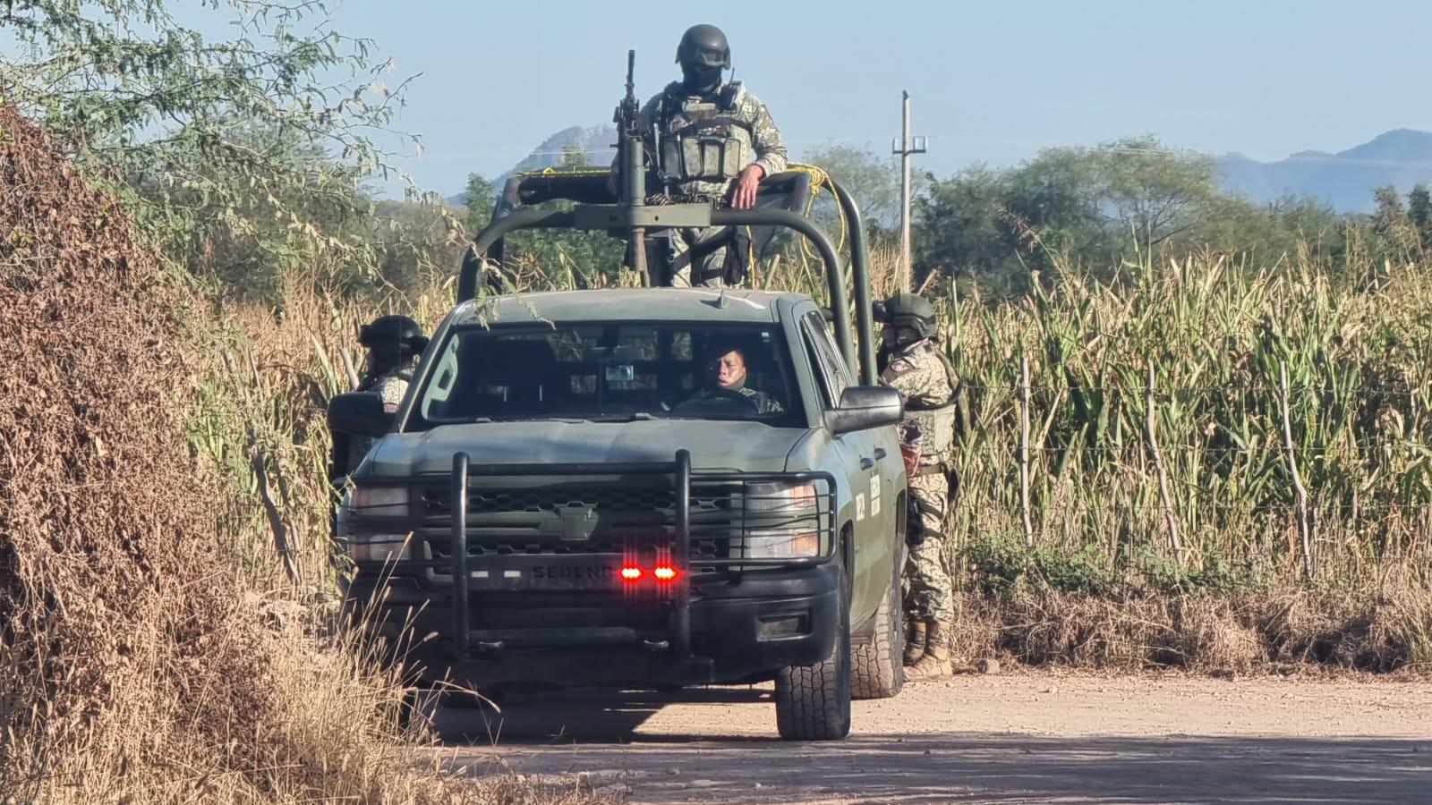
{"type": "MultiPolygon", "coordinates": [[[[894,289],[894,264],[876,249],[878,297],[894,289]]],[[[591,276],[603,282],[583,282],[591,276]]],[[[799,254],[756,278],[823,297],[799,254]]],[[[314,291],[312,279],[291,279],[282,317],[233,312],[232,357],[215,378],[246,385],[251,401],[211,411],[206,427],[222,435],[205,450],[249,474],[255,497],[229,508],[236,550],[274,574],[279,564],[262,560],[274,556],[271,526],[288,524],[292,572],[326,597],[324,403],[351,382],[345,352],[359,324],[404,311],[431,328],[454,282],[438,272],[417,295],[364,305],[314,291]],[[255,451],[265,506],[255,504],[255,451]]],[[[513,272],[517,292],[576,281],[570,265],[513,272]]],[[[1108,281],[1060,268],[1031,286],[994,302],[938,281],[925,288],[974,418],[948,521],[967,594],[1356,590],[1375,600],[1428,589],[1425,266],[1166,255],[1108,281]]],[[[1412,632],[1432,647],[1432,620],[1413,612],[1412,632]]]]}

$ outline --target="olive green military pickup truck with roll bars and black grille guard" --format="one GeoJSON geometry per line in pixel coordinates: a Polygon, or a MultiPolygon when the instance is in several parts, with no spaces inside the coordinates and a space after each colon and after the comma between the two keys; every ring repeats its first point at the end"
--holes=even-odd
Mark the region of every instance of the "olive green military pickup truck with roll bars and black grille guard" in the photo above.
{"type": "Polygon", "coordinates": [[[620,153],[614,203],[593,201],[603,176],[511,183],[523,206],[474,238],[397,411],[331,401],[334,431],[377,438],[339,517],[355,627],[420,685],[773,682],[782,738],[845,738],[852,698],[904,683],[905,411],[876,370],[859,209],[832,179],[848,285],[823,229],[759,203],[799,176],[763,178],[750,209],[647,205],[640,135],[620,153]],[[733,226],[803,235],[825,299],[483,288],[511,232],[733,226]]]}

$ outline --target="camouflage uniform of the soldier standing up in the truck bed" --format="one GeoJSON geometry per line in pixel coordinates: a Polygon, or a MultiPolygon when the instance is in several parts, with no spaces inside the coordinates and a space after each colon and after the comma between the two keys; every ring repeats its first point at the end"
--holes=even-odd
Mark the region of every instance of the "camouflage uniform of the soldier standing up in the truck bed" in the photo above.
{"type": "MultiPolygon", "coordinates": [[[[664,192],[670,196],[729,203],[736,175],[746,165],[760,165],[766,176],[786,169],[786,146],[780,142],[780,132],[772,122],[770,112],[740,82],[722,85],[709,96],[692,95],[682,82],[673,82],[642,107],[640,123],[643,132],[654,132],[660,138],[660,145],[649,145],[657,149],[656,158],[667,179],[664,192]],[[732,145],[730,155],[720,146],[707,150],[696,145],[707,136],[732,145]],[[690,148],[686,148],[687,143],[690,148]],[[700,173],[722,173],[725,178],[684,178],[692,173],[683,169],[686,162],[695,162],[696,155],[705,159],[717,153],[720,165],[706,165],[700,173]]],[[[679,229],[672,235],[670,285],[723,285],[726,245],[703,254],[695,276],[690,252],[693,246],[729,238],[727,226],[679,229]]]]}

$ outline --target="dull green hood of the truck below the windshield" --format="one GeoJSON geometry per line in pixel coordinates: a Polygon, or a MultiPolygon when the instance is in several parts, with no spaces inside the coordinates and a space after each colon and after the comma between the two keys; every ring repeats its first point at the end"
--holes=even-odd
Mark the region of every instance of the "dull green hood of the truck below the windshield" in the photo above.
{"type": "Polygon", "coordinates": [[[474,464],[577,464],[672,461],[692,451],[697,470],[782,471],[809,434],[760,423],[643,420],[634,423],[481,423],[388,434],[369,453],[367,477],[450,473],[453,455],[474,464]]]}

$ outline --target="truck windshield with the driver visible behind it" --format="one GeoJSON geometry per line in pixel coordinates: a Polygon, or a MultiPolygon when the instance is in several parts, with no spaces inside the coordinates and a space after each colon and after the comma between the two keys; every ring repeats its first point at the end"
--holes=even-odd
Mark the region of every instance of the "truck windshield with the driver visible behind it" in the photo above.
{"type": "Polygon", "coordinates": [[[513,420],[792,424],[780,329],[690,322],[454,328],[405,430],[513,420]]]}

